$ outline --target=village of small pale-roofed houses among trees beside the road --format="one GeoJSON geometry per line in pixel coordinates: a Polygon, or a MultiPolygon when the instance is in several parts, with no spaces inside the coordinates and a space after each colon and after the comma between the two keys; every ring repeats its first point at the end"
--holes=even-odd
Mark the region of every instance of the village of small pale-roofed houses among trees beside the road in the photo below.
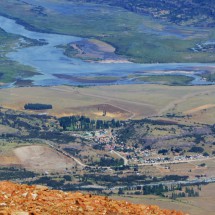
{"type": "Polygon", "coordinates": [[[118,142],[116,134],[112,129],[102,129],[97,131],[88,131],[83,134],[74,134],[76,137],[82,137],[100,145],[104,151],[115,153],[119,158],[123,158],[124,165],[160,165],[171,163],[183,163],[191,161],[204,161],[213,158],[203,153],[184,153],[172,152],[166,149],[149,149],[125,146],[123,142],[118,142]]]}

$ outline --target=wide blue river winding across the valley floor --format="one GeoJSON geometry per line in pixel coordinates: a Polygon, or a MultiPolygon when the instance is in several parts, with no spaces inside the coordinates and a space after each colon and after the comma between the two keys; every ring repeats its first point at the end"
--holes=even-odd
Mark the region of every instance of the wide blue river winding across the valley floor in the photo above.
{"type": "MultiPolygon", "coordinates": [[[[206,67],[215,68],[215,64],[201,63],[172,63],[172,64],[137,64],[137,63],[93,63],[85,62],[76,58],[69,58],[63,54],[63,50],[56,48],[58,45],[68,44],[70,42],[79,41],[83,38],[39,33],[27,30],[24,26],[17,24],[15,20],[0,16],[0,27],[8,33],[21,35],[24,37],[44,40],[47,45],[33,46],[28,48],[19,48],[8,53],[7,57],[18,61],[21,64],[29,65],[38,70],[42,75],[35,75],[28,80],[32,80],[34,85],[52,86],[52,85],[78,85],[84,84],[77,80],[62,79],[54,76],[54,74],[63,74],[72,77],[84,76],[114,76],[119,80],[114,84],[134,84],[137,82],[132,78],[124,78],[133,73],[142,75],[161,75],[161,74],[179,74],[192,76],[195,80],[193,85],[211,84],[202,80],[198,74],[203,72],[206,67]],[[197,70],[195,68],[198,68],[197,70]],[[202,69],[201,69],[202,68],[202,69]]],[[[86,83],[85,83],[86,84],[86,83]]],[[[87,83],[89,85],[89,83],[87,83]]],[[[110,84],[91,82],[92,85],[110,84]]],[[[113,84],[113,83],[112,83],[113,84]]]]}

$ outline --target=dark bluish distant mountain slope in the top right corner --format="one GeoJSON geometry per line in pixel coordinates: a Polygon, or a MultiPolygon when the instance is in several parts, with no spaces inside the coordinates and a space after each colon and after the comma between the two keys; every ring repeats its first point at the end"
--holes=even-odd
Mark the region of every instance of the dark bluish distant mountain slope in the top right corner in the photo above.
{"type": "MultiPolygon", "coordinates": [[[[69,0],[75,1],[76,0],[69,0]]],[[[215,26],[214,0],[80,0],[123,7],[180,25],[215,26]]]]}

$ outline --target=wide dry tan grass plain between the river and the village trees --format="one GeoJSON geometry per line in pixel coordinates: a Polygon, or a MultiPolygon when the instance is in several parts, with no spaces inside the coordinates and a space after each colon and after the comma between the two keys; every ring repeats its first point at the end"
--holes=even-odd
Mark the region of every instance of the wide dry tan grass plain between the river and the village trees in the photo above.
{"type": "Polygon", "coordinates": [[[192,122],[212,123],[215,113],[215,86],[114,85],[95,87],[31,87],[2,89],[0,105],[23,110],[26,103],[49,103],[53,110],[43,111],[56,116],[83,114],[102,119],[139,119],[195,110],[192,122]],[[211,105],[209,105],[211,104],[211,105]],[[106,117],[98,111],[106,105],[106,117]],[[206,106],[205,106],[206,105],[206,106]],[[207,109],[203,111],[200,109],[207,109]],[[204,115],[204,117],[201,117],[204,115]]]}

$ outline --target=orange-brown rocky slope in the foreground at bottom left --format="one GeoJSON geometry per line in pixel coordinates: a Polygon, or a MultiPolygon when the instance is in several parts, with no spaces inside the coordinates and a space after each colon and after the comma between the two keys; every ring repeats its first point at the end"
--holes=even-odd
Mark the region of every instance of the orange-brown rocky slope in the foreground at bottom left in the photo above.
{"type": "Polygon", "coordinates": [[[185,215],[90,194],[0,182],[0,215],[185,215]]]}

